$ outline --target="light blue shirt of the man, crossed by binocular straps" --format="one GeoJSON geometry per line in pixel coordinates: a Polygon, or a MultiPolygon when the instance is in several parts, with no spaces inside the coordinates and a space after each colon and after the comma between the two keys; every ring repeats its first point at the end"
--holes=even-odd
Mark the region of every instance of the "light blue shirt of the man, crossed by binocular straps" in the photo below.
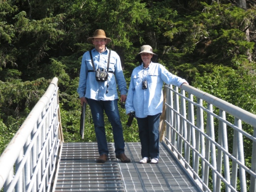
{"type": "MultiPolygon", "coordinates": [[[[109,50],[106,50],[102,53],[99,53],[94,48],[92,50],[92,58],[95,66],[95,70],[100,68],[107,69],[108,65],[108,53],[109,50]]],[[[96,81],[95,72],[88,72],[93,70],[92,61],[90,58],[89,51],[85,52],[82,57],[81,69],[80,69],[80,79],[77,92],[79,97],[86,97],[94,100],[115,100],[118,99],[117,85],[118,90],[121,95],[127,94],[126,81],[124,78],[120,57],[118,54],[111,50],[110,53],[110,63],[109,71],[113,73],[108,73],[108,81],[99,82],[96,81]],[[106,93],[108,84],[108,93],[106,93]]]]}

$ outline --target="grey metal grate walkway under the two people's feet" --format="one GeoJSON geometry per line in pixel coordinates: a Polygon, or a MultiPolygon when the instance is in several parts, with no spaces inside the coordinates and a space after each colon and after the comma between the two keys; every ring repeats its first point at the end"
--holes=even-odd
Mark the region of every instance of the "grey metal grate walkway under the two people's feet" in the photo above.
{"type": "Polygon", "coordinates": [[[160,143],[158,164],[139,164],[140,143],[126,143],[125,154],[131,162],[115,158],[114,143],[109,143],[109,160],[98,158],[96,142],[63,143],[55,191],[102,192],[198,192],[196,186],[160,143]]]}

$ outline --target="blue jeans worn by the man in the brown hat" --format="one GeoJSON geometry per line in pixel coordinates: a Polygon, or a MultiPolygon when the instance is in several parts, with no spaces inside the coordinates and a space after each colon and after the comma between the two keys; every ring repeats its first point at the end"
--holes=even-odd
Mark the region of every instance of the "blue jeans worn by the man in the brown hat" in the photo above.
{"type": "Polygon", "coordinates": [[[115,153],[116,155],[124,153],[124,135],[118,110],[118,100],[103,101],[88,98],[86,98],[86,100],[88,101],[92,112],[99,154],[109,154],[105,132],[104,111],[112,126],[115,153]]]}

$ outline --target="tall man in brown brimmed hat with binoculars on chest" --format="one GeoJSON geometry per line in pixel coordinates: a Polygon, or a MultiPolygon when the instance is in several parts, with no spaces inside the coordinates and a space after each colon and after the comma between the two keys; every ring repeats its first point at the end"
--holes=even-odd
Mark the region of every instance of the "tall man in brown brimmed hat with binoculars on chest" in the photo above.
{"type": "Polygon", "coordinates": [[[113,129],[116,158],[123,163],[129,163],[130,159],[124,154],[124,136],[120,115],[118,111],[118,90],[120,102],[126,101],[126,82],[122,71],[120,57],[114,51],[106,48],[111,42],[106,37],[104,30],[96,30],[93,37],[87,41],[95,46],[91,51],[84,53],[80,70],[78,94],[81,105],[89,104],[94,130],[98,143],[100,157],[97,163],[104,163],[108,159],[109,151],[104,127],[104,111],[113,129]],[[110,57],[109,57],[110,56],[110,57]]]}

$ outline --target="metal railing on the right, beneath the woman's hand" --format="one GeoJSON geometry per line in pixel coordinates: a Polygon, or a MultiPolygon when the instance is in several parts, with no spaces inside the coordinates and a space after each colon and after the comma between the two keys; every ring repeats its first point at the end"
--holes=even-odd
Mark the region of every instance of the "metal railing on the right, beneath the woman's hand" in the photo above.
{"type": "Polygon", "coordinates": [[[186,84],[180,92],[172,85],[165,89],[166,126],[162,126],[162,143],[198,189],[255,192],[256,115],[186,84]],[[232,122],[226,119],[226,114],[232,116],[232,122]],[[242,124],[251,126],[253,134],[243,130],[242,124]],[[230,132],[232,147],[228,146],[230,132]],[[247,149],[252,153],[249,165],[244,159],[245,140],[252,144],[247,149]]]}

